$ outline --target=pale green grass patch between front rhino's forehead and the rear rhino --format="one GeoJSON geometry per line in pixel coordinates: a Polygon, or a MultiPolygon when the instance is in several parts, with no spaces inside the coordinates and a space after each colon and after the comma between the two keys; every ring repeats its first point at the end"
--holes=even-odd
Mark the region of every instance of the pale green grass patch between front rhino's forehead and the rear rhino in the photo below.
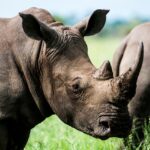
{"type": "Polygon", "coordinates": [[[88,37],[86,42],[92,63],[99,67],[104,60],[110,60],[111,62],[113,53],[119,46],[121,39],[88,37]]]}

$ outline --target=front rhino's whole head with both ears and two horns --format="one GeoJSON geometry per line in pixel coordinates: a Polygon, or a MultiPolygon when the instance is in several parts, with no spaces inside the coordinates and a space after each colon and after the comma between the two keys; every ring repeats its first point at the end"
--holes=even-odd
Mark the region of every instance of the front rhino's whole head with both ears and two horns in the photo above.
{"type": "Polygon", "coordinates": [[[99,69],[93,66],[84,36],[98,33],[107,13],[96,10],[72,27],[46,25],[31,14],[20,14],[26,35],[42,41],[36,69],[49,106],[68,125],[101,139],[129,134],[127,104],[135,94],[143,59],[141,46],[135,64],[115,78],[109,61],[99,69]]]}

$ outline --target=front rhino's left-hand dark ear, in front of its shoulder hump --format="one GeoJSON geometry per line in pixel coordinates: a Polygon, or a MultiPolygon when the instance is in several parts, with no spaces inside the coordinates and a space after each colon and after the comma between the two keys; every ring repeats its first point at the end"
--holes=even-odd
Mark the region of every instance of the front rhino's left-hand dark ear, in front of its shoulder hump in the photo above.
{"type": "Polygon", "coordinates": [[[22,18],[22,27],[24,32],[36,40],[52,40],[56,37],[56,31],[47,27],[31,14],[19,13],[22,18]]]}

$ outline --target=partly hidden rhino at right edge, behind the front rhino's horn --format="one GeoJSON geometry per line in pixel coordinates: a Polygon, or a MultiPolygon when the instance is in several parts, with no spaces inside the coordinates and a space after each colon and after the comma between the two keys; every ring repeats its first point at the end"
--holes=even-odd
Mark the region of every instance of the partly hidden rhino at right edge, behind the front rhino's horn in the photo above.
{"type": "MultiPolygon", "coordinates": [[[[137,55],[137,45],[144,43],[144,59],[139,77],[135,96],[128,105],[129,113],[135,119],[134,130],[137,132],[133,139],[141,142],[143,139],[144,120],[150,116],[150,23],[136,26],[122,41],[113,57],[113,73],[118,76],[128,69],[137,55]]],[[[148,120],[146,121],[148,123],[148,120]]],[[[135,143],[138,145],[139,143],[135,143]]]]}

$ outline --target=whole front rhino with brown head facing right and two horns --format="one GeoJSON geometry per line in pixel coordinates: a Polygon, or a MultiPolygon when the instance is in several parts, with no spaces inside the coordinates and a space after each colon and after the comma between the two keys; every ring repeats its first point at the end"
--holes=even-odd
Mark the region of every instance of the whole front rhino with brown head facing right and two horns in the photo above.
{"type": "Polygon", "coordinates": [[[98,33],[108,10],[95,10],[72,27],[44,9],[29,8],[0,19],[0,149],[23,149],[31,128],[56,114],[96,138],[125,137],[127,104],[134,96],[143,47],[124,74],[109,61],[96,69],[84,36],[98,33]]]}

